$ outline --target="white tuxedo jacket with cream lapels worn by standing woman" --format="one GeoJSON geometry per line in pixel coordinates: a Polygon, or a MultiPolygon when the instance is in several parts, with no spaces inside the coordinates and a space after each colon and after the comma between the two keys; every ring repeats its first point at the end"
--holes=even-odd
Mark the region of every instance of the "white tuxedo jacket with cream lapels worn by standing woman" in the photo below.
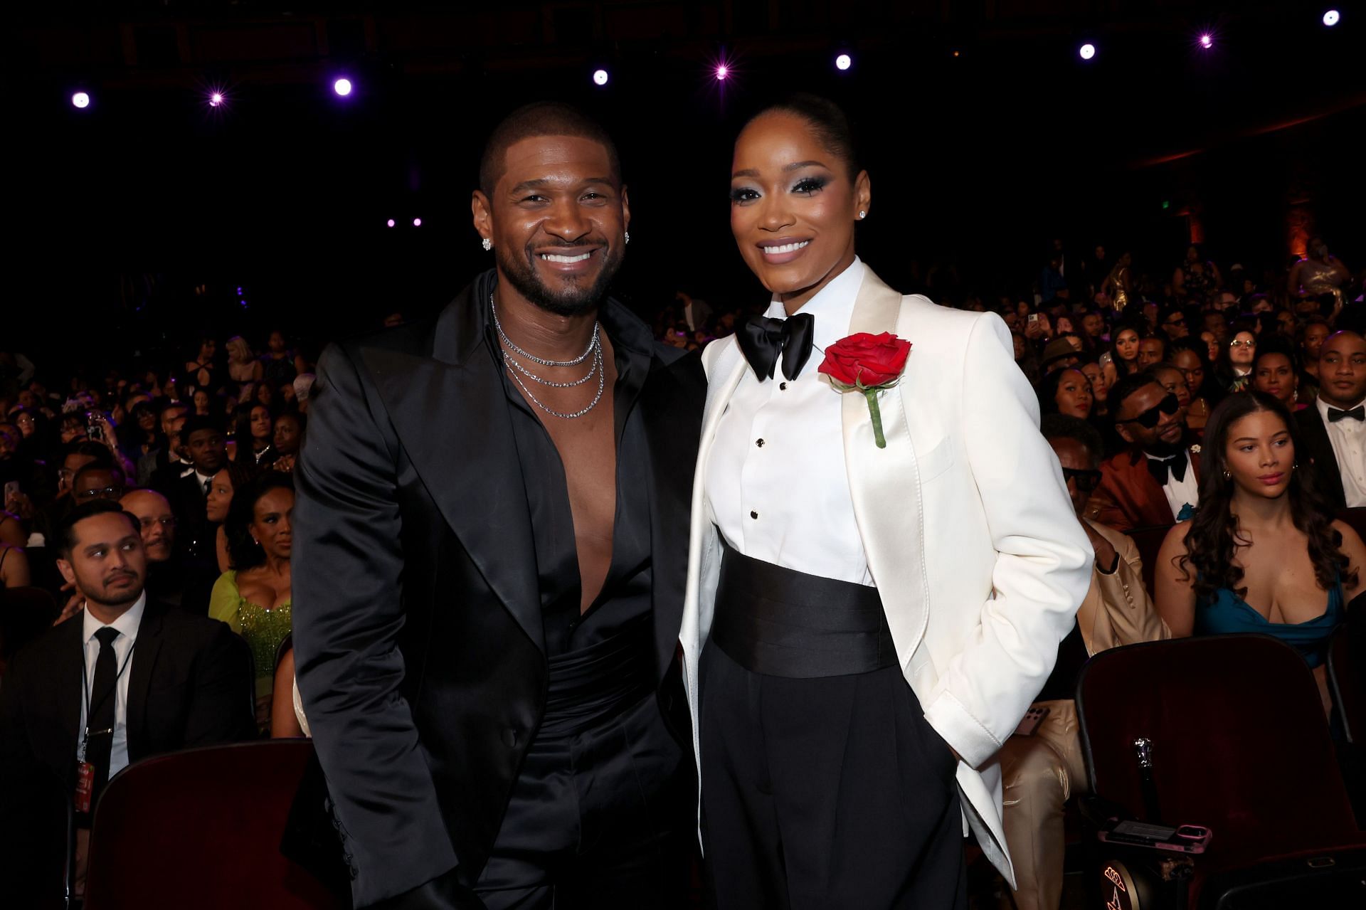
{"type": "MultiPolygon", "coordinates": [[[[964,831],[1014,884],[994,756],[1053,668],[1086,597],[1093,551],[1000,318],[902,297],[867,272],[855,332],[911,343],[900,384],[880,399],[887,448],[873,440],[865,398],[844,395],[859,537],[906,679],[963,758],[964,831]]],[[[703,482],[721,413],[747,369],[734,336],[708,346],[702,361],[709,387],[680,633],[699,762],[698,656],[721,564],[703,482]]]]}

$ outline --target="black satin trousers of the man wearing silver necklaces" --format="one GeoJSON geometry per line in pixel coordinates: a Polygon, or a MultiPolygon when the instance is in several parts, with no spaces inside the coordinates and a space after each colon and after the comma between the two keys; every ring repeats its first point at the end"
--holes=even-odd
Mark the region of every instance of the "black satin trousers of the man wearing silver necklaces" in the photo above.
{"type": "Polygon", "coordinates": [[[475,887],[489,910],[687,900],[694,779],[660,713],[647,631],[631,653],[608,642],[550,661],[546,716],[475,887]]]}

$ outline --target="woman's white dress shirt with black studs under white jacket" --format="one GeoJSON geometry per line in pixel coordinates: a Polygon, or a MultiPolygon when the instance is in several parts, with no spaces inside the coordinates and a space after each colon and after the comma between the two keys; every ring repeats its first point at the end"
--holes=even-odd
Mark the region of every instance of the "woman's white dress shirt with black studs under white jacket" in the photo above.
{"type": "MultiPolygon", "coordinates": [[[[848,335],[863,264],[840,272],[800,309],[816,317],[811,358],[796,378],[753,370],[721,415],[706,465],[706,497],[732,548],[775,566],[873,585],[844,465],[843,395],[817,369],[848,335]]],[[[787,318],[780,301],[766,316],[787,318]]]]}

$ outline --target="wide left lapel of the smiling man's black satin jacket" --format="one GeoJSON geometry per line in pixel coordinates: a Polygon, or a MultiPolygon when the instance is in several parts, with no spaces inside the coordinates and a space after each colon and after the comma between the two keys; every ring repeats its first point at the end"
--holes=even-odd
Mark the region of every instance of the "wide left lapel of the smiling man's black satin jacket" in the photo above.
{"type": "Polygon", "coordinates": [[[432,357],[362,350],[403,451],[494,596],[545,648],[530,507],[501,377],[484,337],[484,283],[436,322],[432,357]]]}

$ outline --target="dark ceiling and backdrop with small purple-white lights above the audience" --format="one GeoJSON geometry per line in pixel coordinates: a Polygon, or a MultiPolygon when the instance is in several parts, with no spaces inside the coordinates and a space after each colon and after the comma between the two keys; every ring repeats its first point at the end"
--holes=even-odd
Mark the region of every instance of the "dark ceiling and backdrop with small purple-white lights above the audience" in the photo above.
{"type": "Polygon", "coordinates": [[[635,217],[619,290],[643,310],[675,284],[762,294],[728,236],[725,171],[744,113],[792,90],[854,116],[874,186],[862,249],[893,281],[952,260],[973,288],[1019,295],[1053,235],[1168,271],[1191,215],[1216,256],[1279,264],[1299,212],[1366,258],[1361,3],[1336,4],[1335,29],[1303,1],[113,5],[5,14],[25,331],[234,307],[332,333],[430,310],[485,262],[482,137],[537,97],[617,137],[635,217]]]}

